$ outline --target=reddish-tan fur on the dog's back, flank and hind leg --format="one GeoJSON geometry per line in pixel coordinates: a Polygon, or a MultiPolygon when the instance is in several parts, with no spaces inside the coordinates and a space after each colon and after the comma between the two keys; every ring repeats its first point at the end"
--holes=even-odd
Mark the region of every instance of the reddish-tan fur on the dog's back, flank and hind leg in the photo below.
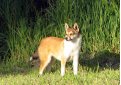
{"type": "Polygon", "coordinates": [[[55,54],[56,57],[60,48],[63,49],[63,40],[63,38],[47,37],[40,42],[40,46],[38,48],[38,54],[41,61],[40,71],[45,69],[46,66],[44,65],[47,63],[50,52],[55,54]]]}

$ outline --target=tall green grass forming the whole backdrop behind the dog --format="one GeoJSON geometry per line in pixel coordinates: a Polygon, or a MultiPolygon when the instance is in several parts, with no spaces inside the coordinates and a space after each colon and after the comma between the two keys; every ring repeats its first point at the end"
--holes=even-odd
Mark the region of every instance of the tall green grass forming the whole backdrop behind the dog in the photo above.
{"type": "Polygon", "coordinates": [[[119,0],[52,1],[44,15],[39,14],[31,0],[2,0],[0,6],[6,25],[5,35],[2,32],[4,36],[0,38],[5,37],[5,57],[9,56],[7,60],[12,64],[27,63],[43,37],[64,37],[65,22],[71,26],[78,23],[83,35],[82,53],[119,53],[119,0]],[[34,21],[28,16],[31,10],[36,15],[34,21]]]}

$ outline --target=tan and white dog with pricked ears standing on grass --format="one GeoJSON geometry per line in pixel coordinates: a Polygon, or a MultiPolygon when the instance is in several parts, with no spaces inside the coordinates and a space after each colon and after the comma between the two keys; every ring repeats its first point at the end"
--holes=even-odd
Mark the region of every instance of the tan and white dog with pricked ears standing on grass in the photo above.
{"type": "Polygon", "coordinates": [[[79,52],[81,48],[82,35],[77,23],[70,27],[65,23],[65,38],[46,37],[43,38],[37,49],[37,53],[30,60],[39,58],[39,74],[42,75],[45,68],[51,69],[53,58],[61,62],[61,76],[65,74],[67,61],[73,60],[73,73],[77,75],[79,52]]]}

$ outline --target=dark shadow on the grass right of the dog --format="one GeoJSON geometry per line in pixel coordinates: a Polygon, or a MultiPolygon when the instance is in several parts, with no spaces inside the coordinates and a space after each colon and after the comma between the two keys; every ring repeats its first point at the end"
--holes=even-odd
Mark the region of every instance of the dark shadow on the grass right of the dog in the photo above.
{"type": "Polygon", "coordinates": [[[104,69],[119,69],[120,55],[111,53],[108,50],[98,52],[96,54],[84,53],[84,57],[80,59],[80,65],[99,71],[104,69]],[[92,57],[93,56],[93,57],[92,57]]]}

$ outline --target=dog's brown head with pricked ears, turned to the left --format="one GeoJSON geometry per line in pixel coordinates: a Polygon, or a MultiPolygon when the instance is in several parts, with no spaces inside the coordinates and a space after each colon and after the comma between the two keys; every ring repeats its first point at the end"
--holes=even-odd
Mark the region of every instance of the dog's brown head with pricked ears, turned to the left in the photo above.
{"type": "Polygon", "coordinates": [[[69,27],[68,24],[65,23],[65,31],[66,31],[65,39],[67,41],[74,40],[79,36],[79,28],[77,23],[74,23],[73,27],[69,27]]]}

